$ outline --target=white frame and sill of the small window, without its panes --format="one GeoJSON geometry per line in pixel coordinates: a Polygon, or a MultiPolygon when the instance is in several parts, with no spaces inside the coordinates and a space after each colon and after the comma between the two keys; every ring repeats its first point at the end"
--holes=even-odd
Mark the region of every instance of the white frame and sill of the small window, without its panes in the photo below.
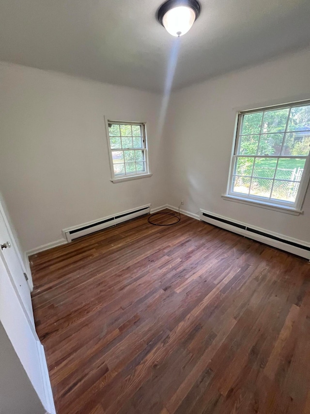
{"type": "MultiPolygon", "coordinates": [[[[120,121],[115,119],[108,119],[105,118],[106,122],[106,131],[107,131],[107,142],[108,142],[108,148],[109,148],[109,160],[110,160],[110,168],[111,168],[111,182],[117,183],[117,182],[124,182],[124,181],[130,181],[130,180],[137,180],[140,178],[147,178],[152,177],[152,174],[149,170],[149,157],[148,157],[148,145],[147,145],[147,137],[146,137],[146,127],[145,122],[136,122],[136,121],[120,121]],[[116,149],[111,149],[111,143],[110,143],[110,135],[109,135],[109,124],[118,124],[118,125],[140,125],[141,131],[142,131],[142,147],[138,148],[141,149],[144,152],[144,162],[145,162],[145,171],[142,172],[135,172],[131,174],[115,174],[114,173],[114,165],[113,165],[113,158],[112,158],[112,151],[115,151],[116,149]]],[[[120,150],[135,150],[133,148],[123,148],[122,142],[121,142],[120,150]]]]}

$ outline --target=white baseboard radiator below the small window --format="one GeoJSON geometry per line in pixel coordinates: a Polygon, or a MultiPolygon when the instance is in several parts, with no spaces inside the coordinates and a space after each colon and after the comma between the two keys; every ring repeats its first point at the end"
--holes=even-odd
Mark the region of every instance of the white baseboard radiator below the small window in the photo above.
{"type": "Polygon", "coordinates": [[[122,213],[99,218],[98,220],[80,224],[79,226],[63,229],[62,234],[68,242],[71,242],[72,240],[85,236],[86,234],[98,232],[99,230],[106,229],[107,227],[115,226],[116,224],[131,220],[132,218],[139,217],[140,215],[149,214],[150,209],[151,204],[147,204],[145,206],[137,207],[134,210],[123,211],[122,213]]]}

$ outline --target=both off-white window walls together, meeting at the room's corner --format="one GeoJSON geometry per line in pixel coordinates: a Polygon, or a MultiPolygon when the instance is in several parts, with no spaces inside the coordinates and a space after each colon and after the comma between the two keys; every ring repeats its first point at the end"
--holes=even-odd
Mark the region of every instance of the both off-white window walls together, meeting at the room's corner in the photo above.
{"type": "Polygon", "coordinates": [[[293,216],[221,199],[238,109],[310,98],[310,50],[161,96],[0,64],[0,189],[22,249],[61,230],[151,202],[200,208],[310,241],[310,191],[293,216]],[[153,177],[113,184],[104,116],[147,122],[153,177]],[[169,177],[169,178],[167,178],[169,177]]]}

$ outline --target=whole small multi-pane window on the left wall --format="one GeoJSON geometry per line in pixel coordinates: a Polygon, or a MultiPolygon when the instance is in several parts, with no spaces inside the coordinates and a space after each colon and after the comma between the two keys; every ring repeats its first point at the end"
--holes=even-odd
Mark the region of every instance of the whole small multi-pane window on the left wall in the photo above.
{"type": "Polygon", "coordinates": [[[145,124],[108,120],[112,181],[150,176],[145,124]]]}

